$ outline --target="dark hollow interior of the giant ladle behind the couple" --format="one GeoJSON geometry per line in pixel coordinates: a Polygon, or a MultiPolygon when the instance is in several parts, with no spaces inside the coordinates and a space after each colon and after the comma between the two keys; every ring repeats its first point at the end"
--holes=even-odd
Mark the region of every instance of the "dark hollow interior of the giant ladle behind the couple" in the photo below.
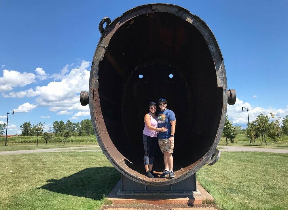
{"type": "MultiPolygon", "coordinates": [[[[148,103],[158,98],[166,98],[176,115],[174,171],[194,167],[209,151],[223,88],[217,87],[211,52],[193,25],[165,12],[137,16],[113,34],[98,69],[105,125],[129,168],[144,172],[143,118],[148,103]]],[[[159,149],[154,157],[154,170],[162,171],[159,149]]]]}

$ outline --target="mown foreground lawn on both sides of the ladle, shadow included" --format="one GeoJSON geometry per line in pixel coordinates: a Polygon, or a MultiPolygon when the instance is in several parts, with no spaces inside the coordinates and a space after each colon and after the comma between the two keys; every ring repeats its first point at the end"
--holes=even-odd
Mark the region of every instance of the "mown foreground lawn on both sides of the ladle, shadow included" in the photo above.
{"type": "MultiPolygon", "coordinates": [[[[197,179],[222,210],[288,209],[288,154],[222,152],[197,179]]],[[[0,209],[100,209],[120,173],[102,152],[1,155],[0,209]]]]}

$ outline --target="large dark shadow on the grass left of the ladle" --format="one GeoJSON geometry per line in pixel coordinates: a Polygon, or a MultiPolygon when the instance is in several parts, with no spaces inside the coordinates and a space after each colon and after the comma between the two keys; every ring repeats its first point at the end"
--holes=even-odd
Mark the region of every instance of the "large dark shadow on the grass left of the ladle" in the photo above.
{"type": "Polygon", "coordinates": [[[114,167],[86,168],[69,177],[47,180],[49,183],[38,189],[100,200],[119,179],[120,173],[114,167]]]}

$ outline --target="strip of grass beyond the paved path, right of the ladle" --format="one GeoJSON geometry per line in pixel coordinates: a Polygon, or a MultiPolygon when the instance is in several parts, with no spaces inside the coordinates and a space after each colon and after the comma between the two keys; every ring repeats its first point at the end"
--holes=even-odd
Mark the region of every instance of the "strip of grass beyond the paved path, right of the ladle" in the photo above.
{"type": "MultiPolygon", "coordinates": [[[[225,141],[219,141],[219,147],[221,145],[226,145],[225,141]]],[[[228,140],[227,146],[242,146],[242,147],[260,147],[260,148],[272,148],[272,149],[288,149],[288,141],[281,141],[279,142],[273,142],[273,141],[267,141],[267,145],[265,144],[265,141],[263,140],[263,145],[261,146],[261,140],[256,141],[256,143],[249,143],[249,141],[237,141],[237,143],[230,143],[228,140]]]]}

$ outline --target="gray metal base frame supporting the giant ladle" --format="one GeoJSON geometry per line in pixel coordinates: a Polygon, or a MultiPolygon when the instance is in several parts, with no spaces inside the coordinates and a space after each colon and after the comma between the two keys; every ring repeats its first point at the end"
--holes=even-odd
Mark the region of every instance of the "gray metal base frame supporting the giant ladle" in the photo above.
{"type": "Polygon", "coordinates": [[[127,195],[201,195],[197,190],[196,174],[168,185],[145,185],[137,183],[121,174],[121,188],[118,196],[127,195]]]}

